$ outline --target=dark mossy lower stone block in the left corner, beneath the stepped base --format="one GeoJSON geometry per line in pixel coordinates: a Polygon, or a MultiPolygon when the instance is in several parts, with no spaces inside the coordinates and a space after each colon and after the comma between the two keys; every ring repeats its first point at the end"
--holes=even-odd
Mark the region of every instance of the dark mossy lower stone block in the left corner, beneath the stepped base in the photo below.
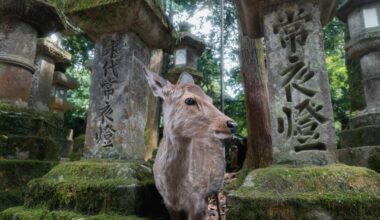
{"type": "Polygon", "coordinates": [[[46,174],[56,162],[0,159],[0,211],[21,205],[27,183],[46,174]]]}

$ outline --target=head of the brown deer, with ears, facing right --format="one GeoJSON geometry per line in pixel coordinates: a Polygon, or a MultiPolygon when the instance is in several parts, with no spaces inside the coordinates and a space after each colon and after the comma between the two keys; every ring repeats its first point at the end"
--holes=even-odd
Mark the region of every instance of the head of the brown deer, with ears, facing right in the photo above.
{"type": "Polygon", "coordinates": [[[230,138],[236,132],[237,124],[212,104],[190,74],[182,73],[174,85],[146,68],[144,72],[153,94],[164,100],[166,132],[185,138],[219,139],[230,138]]]}

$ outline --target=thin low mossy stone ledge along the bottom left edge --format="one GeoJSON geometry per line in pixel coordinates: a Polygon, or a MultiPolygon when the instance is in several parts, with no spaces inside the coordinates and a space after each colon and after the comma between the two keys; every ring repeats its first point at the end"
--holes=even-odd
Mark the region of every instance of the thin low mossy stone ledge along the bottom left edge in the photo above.
{"type": "Polygon", "coordinates": [[[9,208],[0,213],[0,220],[145,220],[137,216],[118,214],[83,215],[70,211],[49,211],[46,208],[27,209],[24,207],[9,208]]]}

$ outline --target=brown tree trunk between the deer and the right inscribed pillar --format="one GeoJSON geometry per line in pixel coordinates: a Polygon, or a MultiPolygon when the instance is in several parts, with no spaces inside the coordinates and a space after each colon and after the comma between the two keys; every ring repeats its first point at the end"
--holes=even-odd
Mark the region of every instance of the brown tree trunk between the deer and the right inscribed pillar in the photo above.
{"type": "Polygon", "coordinates": [[[248,122],[248,146],[243,170],[249,172],[272,164],[272,139],[263,42],[241,35],[240,48],[248,122]]]}

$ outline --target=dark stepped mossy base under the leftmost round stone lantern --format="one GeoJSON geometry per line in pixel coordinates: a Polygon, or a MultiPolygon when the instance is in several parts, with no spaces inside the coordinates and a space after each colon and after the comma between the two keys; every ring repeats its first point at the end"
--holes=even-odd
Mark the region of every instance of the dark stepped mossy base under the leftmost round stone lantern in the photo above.
{"type": "Polygon", "coordinates": [[[0,103],[0,157],[58,160],[67,130],[56,115],[0,103]]]}

